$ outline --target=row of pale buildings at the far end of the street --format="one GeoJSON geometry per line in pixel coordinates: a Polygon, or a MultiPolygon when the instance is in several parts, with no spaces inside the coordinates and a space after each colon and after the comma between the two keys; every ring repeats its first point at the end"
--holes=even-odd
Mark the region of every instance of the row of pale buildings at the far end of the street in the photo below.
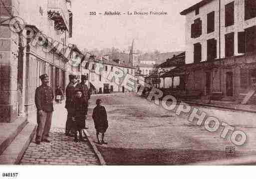
{"type": "MultiPolygon", "coordinates": [[[[111,93],[111,92],[128,92],[125,85],[122,84],[122,77],[115,79],[109,78],[111,72],[120,70],[123,72],[123,77],[127,74],[135,76],[135,67],[129,64],[121,63],[119,59],[106,58],[106,56],[97,58],[93,55],[83,54],[77,47],[72,48],[73,61],[81,62],[78,65],[73,65],[72,70],[79,77],[81,75],[88,76],[88,86],[95,90],[96,93],[111,93]],[[75,58],[78,58],[76,60],[75,58]],[[83,59],[84,58],[84,59],[83,59]],[[77,67],[76,67],[77,66],[77,67]],[[118,69],[116,69],[118,68],[118,69]]],[[[131,82],[132,88],[135,91],[135,81],[131,82]]]]}

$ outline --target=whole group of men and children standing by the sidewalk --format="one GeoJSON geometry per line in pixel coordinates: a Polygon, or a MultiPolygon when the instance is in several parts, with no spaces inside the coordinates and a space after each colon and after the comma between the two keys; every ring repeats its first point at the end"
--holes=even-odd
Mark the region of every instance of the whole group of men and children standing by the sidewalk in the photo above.
{"type": "MultiPolygon", "coordinates": [[[[41,79],[41,86],[35,90],[35,105],[37,108],[37,130],[35,143],[50,142],[48,140],[51,126],[51,118],[53,112],[54,94],[52,88],[48,86],[49,77],[43,74],[39,77],[41,79]]],[[[90,99],[90,91],[86,85],[88,77],[81,76],[81,83],[77,83],[76,75],[69,75],[69,84],[66,87],[66,103],[67,120],[66,120],[66,136],[73,136],[74,141],[84,141],[82,131],[88,129],[85,124],[88,112],[88,104],[90,99]],[[78,135],[79,134],[79,139],[78,135]]],[[[60,88],[55,91],[56,102],[61,103],[64,94],[60,88]],[[61,97],[57,97],[61,96],[61,97]]],[[[104,141],[105,132],[108,128],[107,113],[104,106],[102,106],[101,99],[96,100],[96,107],[93,109],[92,118],[96,129],[97,144],[107,144],[104,141]],[[99,133],[101,133],[101,142],[99,140],[99,133]]]]}

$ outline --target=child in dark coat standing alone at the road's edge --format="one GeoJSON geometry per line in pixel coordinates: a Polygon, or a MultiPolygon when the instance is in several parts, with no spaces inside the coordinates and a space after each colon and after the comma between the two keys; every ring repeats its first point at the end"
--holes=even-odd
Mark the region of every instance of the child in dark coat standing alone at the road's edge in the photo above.
{"type": "Polygon", "coordinates": [[[98,144],[107,144],[104,141],[105,132],[108,128],[107,112],[104,106],[101,105],[101,99],[96,100],[97,106],[93,109],[92,119],[96,129],[96,137],[98,144]],[[99,133],[101,133],[101,143],[99,141],[99,133]]]}

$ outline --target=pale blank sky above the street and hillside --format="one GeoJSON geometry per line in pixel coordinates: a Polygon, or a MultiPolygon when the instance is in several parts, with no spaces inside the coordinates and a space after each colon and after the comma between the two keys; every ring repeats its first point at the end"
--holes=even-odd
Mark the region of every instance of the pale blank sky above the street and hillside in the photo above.
{"type": "Polygon", "coordinates": [[[180,12],[201,0],[72,0],[73,37],[80,49],[128,49],[172,52],[185,50],[185,16],[180,12]],[[120,11],[120,16],[98,13],[120,11]],[[127,15],[164,11],[168,15],[127,15]],[[89,15],[96,12],[96,15],[89,15]]]}

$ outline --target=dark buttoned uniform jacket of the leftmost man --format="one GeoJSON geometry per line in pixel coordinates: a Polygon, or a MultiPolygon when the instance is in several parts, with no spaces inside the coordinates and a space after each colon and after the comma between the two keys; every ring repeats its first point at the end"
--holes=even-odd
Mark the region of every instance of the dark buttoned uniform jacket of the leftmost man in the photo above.
{"type": "Polygon", "coordinates": [[[35,90],[35,106],[37,111],[53,111],[53,90],[47,85],[41,85],[35,90]]]}

